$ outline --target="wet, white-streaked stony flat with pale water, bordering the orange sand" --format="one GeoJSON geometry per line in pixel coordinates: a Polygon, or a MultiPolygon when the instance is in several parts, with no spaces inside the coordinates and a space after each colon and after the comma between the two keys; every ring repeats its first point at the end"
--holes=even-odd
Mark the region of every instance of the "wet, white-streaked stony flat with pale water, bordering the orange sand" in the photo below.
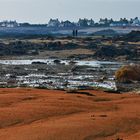
{"type": "Polygon", "coordinates": [[[0,60],[1,87],[115,90],[114,73],[124,63],[53,59],[0,60]]]}

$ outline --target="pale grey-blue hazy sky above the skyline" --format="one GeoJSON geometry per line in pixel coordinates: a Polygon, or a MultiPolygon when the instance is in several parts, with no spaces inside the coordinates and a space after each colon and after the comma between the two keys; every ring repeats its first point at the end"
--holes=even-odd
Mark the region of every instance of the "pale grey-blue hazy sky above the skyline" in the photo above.
{"type": "Polygon", "coordinates": [[[0,21],[47,23],[50,18],[77,21],[78,18],[136,17],[140,0],[0,0],[0,21]]]}

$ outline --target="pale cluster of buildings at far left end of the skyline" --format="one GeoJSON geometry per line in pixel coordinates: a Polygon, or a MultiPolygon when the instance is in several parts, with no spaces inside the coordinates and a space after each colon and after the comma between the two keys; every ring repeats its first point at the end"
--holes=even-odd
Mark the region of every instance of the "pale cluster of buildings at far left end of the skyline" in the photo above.
{"type": "Polygon", "coordinates": [[[8,28],[14,28],[18,27],[19,24],[16,21],[3,21],[0,22],[0,27],[8,27],[8,28]]]}

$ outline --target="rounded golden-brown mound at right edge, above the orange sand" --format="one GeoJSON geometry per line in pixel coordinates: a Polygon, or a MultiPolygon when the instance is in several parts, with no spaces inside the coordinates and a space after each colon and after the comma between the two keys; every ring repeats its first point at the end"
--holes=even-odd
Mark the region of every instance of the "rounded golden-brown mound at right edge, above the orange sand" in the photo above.
{"type": "Polygon", "coordinates": [[[123,66],[115,73],[115,77],[117,82],[123,83],[140,81],[140,65],[123,66]]]}

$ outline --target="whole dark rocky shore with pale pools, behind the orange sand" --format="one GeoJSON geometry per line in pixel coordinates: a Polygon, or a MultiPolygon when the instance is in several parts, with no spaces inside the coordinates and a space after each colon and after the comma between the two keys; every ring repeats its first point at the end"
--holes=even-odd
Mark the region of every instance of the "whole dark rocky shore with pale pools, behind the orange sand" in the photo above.
{"type": "Polygon", "coordinates": [[[130,91],[115,72],[140,63],[140,32],[119,36],[21,37],[0,40],[0,87],[130,91]]]}

